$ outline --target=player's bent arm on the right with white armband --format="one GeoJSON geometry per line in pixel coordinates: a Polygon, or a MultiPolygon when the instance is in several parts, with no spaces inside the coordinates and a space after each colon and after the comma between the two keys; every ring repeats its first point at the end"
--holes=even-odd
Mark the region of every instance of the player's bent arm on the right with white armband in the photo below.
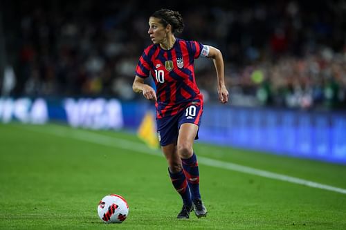
{"type": "MultiPolygon", "coordinates": [[[[225,104],[228,102],[228,90],[225,84],[224,58],[219,49],[212,46],[205,47],[208,49],[206,50],[206,57],[212,58],[217,72],[217,92],[219,93],[219,100],[222,104],[225,104]]],[[[203,48],[203,50],[204,49],[205,48],[203,48]]]]}

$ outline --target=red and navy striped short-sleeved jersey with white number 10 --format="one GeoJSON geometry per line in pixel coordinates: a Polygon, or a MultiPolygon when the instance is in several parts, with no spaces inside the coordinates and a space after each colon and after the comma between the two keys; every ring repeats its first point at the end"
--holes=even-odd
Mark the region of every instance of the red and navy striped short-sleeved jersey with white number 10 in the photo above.
{"type": "Polygon", "coordinates": [[[158,44],[145,48],[140,57],[136,75],[152,74],[156,85],[156,117],[176,115],[191,103],[201,103],[203,97],[194,78],[194,59],[201,54],[203,45],[197,41],[176,38],[170,50],[158,44]]]}

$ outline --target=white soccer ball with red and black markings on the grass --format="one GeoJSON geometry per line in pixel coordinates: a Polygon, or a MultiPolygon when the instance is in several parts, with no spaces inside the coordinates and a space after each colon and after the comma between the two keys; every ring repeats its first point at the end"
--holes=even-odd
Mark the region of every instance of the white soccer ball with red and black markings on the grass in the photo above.
{"type": "Polygon", "coordinates": [[[98,216],[105,223],[121,223],[129,214],[129,205],[120,195],[106,195],[98,204],[98,216]]]}

